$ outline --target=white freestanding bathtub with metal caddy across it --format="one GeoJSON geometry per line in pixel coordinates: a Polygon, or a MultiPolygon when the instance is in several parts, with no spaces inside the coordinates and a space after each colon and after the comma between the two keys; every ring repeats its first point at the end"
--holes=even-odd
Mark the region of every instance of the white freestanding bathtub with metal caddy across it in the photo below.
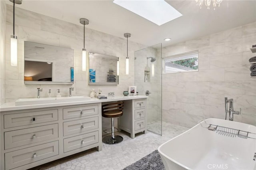
{"type": "Polygon", "coordinates": [[[206,119],[158,147],[166,170],[256,170],[256,139],[225,136],[204,128],[209,124],[256,133],[255,126],[245,123],[206,119]]]}

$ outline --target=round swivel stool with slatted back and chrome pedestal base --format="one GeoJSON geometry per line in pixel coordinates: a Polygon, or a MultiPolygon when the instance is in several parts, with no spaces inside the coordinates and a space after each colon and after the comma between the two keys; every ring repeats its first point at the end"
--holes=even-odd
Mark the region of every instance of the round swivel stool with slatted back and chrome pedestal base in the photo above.
{"type": "Polygon", "coordinates": [[[123,115],[124,101],[102,105],[102,116],[111,118],[111,136],[105,136],[102,142],[106,144],[117,144],[123,141],[123,137],[114,135],[114,118],[123,115]]]}

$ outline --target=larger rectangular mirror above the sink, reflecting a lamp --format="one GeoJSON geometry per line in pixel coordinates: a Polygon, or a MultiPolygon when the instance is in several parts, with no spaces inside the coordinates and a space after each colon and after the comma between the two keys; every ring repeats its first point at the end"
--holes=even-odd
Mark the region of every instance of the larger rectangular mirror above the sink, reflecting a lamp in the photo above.
{"type": "Polygon", "coordinates": [[[24,41],[25,84],[73,84],[74,49],[24,41]]]}

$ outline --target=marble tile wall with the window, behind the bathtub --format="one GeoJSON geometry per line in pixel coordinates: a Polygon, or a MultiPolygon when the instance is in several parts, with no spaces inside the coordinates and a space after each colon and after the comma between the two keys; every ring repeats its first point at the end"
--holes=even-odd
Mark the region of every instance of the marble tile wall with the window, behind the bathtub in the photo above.
{"type": "Polygon", "coordinates": [[[234,99],[234,121],[256,125],[256,78],[248,59],[256,55],[256,23],[177,43],[162,56],[199,51],[199,71],[163,74],[163,120],[192,127],[200,119],[225,119],[224,97],[234,99]]]}

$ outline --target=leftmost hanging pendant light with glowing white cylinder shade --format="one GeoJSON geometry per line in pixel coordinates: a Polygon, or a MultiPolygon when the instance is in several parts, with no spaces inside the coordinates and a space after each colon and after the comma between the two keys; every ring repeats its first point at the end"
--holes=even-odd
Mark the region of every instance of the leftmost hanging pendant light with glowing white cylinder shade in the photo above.
{"type": "Polygon", "coordinates": [[[18,65],[18,37],[15,36],[14,32],[14,4],[21,4],[22,0],[10,0],[13,2],[13,35],[11,35],[11,66],[18,65]]]}

